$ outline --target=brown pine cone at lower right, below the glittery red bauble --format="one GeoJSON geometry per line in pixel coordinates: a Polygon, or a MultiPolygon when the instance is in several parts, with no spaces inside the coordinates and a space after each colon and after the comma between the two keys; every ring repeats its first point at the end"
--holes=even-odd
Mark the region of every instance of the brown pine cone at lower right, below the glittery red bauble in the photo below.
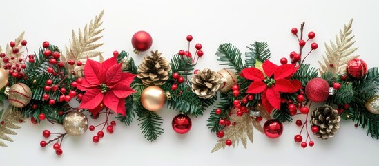
{"type": "Polygon", "coordinates": [[[326,140],[334,136],[340,129],[340,116],[338,111],[329,105],[317,107],[311,114],[311,126],[317,126],[318,132],[315,133],[318,138],[326,140]]]}

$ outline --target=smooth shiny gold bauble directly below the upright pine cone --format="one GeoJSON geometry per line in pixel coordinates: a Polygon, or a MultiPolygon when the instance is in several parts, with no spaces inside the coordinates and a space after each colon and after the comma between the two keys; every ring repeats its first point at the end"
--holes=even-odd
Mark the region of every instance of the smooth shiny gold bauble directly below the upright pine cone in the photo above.
{"type": "Polygon", "coordinates": [[[148,86],[141,94],[141,104],[148,111],[159,111],[166,102],[166,93],[159,86],[148,86]]]}

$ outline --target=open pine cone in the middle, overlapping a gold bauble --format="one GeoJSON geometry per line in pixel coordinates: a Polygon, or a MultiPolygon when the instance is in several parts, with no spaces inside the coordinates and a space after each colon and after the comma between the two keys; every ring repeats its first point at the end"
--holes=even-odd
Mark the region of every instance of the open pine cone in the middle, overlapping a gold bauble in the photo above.
{"type": "Polygon", "coordinates": [[[192,91],[199,96],[199,98],[212,98],[220,89],[220,77],[217,72],[211,71],[209,68],[204,68],[194,74],[192,82],[192,91]]]}

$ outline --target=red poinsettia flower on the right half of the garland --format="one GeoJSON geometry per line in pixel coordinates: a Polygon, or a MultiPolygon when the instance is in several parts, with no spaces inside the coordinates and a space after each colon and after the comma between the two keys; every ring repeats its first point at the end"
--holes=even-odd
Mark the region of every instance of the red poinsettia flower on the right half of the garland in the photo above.
{"type": "Polygon", "coordinates": [[[258,68],[245,68],[242,75],[252,80],[247,93],[262,93],[262,104],[268,113],[280,110],[280,92],[294,93],[302,87],[299,80],[289,80],[298,70],[295,64],[277,66],[269,60],[262,64],[263,72],[258,68]]]}

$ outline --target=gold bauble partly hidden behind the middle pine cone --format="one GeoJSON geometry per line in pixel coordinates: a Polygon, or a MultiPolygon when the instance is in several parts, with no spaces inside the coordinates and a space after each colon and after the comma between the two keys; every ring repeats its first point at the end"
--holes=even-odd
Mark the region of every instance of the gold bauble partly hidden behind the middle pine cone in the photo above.
{"type": "Polygon", "coordinates": [[[229,93],[231,87],[237,84],[237,75],[229,69],[222,68],[217,71],[217,74],[221,77],[221,87],[218,91],[221,93],[229,93]]]}

